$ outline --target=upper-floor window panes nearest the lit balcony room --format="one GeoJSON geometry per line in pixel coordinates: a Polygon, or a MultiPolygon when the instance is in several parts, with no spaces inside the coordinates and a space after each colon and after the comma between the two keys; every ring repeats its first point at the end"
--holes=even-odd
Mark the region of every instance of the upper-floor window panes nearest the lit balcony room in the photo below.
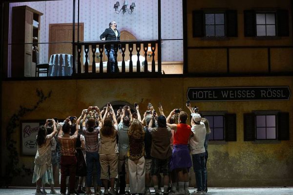
{"type": "Polygon", "coordinates": [[[206,13],[205,14],[205,35],[207,37],[225,36],[225,14],[206,13]]]}

